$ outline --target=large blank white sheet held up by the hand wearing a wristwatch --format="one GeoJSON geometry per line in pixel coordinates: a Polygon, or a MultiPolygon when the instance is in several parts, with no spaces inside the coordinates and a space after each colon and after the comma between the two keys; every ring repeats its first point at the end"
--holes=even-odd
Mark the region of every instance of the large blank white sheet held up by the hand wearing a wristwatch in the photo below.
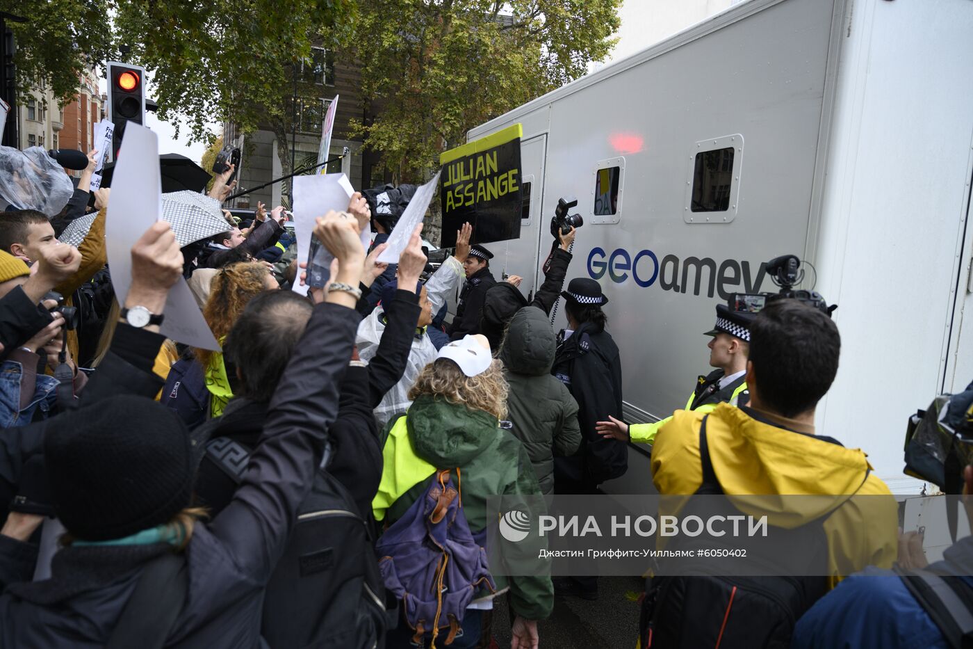
{"type": "MultiPolygon", "coordinates": [[[[162,214],[159,137],[138,124],[126,125],[125,142],[112,176],[112,200],[105,221],[112,286],[124,302],[131,286],[131,247],[162,214]]],[[[220,351],[220,345],[199,311],[186,280],[169,290],[162,335],[177,342],[220,351]]]]}

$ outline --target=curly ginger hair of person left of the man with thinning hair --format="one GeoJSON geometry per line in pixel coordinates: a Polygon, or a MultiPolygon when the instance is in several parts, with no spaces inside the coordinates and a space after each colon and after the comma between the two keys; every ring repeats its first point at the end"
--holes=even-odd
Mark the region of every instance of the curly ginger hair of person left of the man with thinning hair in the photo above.
{"type": "MultiPolygon", "coordinates": [[[[209,299],[202,310],[202,316],[212,329],[213,336],[221,340],[230,333],[247,303],[265,290],[267,267],[261,263],[241,261],[225,266],[217,273],[209,288],[209,299]]],[[[196,356],[203,367],[208,367],[213,352],[198,349],[196,356]]]]}

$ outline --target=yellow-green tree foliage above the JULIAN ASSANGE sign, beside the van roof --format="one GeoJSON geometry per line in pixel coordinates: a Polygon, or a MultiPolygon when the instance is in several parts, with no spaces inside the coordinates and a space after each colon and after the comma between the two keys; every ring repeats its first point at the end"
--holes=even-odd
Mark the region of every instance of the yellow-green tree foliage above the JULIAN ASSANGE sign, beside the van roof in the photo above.
{"type": "Polygon", "coordinates": [[[349,49],[375,119],[354,124],[399,180],[466,132],[588,71],[622,0],[360,0],[349,49]]]}

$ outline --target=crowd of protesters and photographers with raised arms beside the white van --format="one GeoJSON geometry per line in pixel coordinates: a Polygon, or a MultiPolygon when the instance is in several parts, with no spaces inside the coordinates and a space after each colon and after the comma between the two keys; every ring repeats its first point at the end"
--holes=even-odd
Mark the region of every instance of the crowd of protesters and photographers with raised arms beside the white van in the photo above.
{"type": "MultiPolygon", "coordinates": [[[[829,315],[717,308],[717,369],[684,410],[629,426],[608,298],[594,280],[564,287],[573,228],[528,299],[520,278],[495,281],[469,224],[438,268],[421,225],[397,264],[378,262],[395,214],[381,189],[356,193],[316,220],[335,261],[305,297],[286,211],[221,212],[231,169],[206,196],[163,195],[202,201],[215,229],[154,224],[116,295],[95,156],[77,186],[59,168],[29,192],[27,174],[0,182],[0,646],[489,647],[505,601],[514,649],[537,647],[556,593],[595,599],[597,579],[491,572],[486,500],[598,494],[626,474],[630,440],[654,442],[645,480],[663,495],[828,497],[770,512],[818,530],[818,576],[651,578],[633,645],[948,646],[887,572],[902,557],[887,487],[814,430],[840,355],[829,315]],[[160,333],[182,280],[219,351],[160,333]]],[[[414,193],[394,191],[400,207],[414,193]]],[[[970,574],[968,545],[939,571],[970,574]]]]}

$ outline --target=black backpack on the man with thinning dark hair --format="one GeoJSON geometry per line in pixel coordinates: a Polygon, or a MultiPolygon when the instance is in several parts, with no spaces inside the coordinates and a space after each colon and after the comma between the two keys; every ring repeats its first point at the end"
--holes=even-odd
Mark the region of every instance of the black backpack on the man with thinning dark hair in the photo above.
{"type": "MultiPolygon", "coordinates": [[[[252,449],[210,439],[206,456],[238,484],[252,449]]],[[[371,526],[326,470],[330,446],[264,596],[261,636],[273,649],[381,647],[389,619],[371,526]]]]}

